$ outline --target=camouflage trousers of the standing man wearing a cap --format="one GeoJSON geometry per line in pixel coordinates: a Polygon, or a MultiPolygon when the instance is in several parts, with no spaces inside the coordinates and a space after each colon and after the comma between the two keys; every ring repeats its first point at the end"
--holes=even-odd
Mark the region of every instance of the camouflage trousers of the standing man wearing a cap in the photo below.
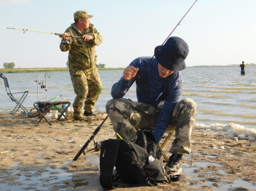
{"type": "Polygon", "coordinates": [[[99,78],[98,69],[79,70],[69,68],[70,78],[76,98],[73,101],[74,117],[82,117],[82,107],[85,104],[85,111],[93,113],[94,105],[102,92],[102,83],[99,78]]]}

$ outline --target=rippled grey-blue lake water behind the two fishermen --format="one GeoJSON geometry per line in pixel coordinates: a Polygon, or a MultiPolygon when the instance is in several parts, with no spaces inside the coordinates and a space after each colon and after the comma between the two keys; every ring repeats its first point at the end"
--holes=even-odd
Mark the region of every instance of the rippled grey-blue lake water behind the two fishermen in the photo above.
{"type": "MultiPolygon", "coordinates": [[[[240,124],[256,129],[256,67],[247,66],[246,76],[240,76],[240,67],[187,67],[181,72],[185,81],[183,98],[192,98],[197,103],[199,124],[240,124]]],[[[46,101],[62,95],[65,100],[75,98],[68,72],[55,73],[6,73],[11,92],[28,90],[24,107],[33,108],[36,101],[46,101]],[[46,81],[45,81],[46,79],[46,81]],[[47,85],[41,88],[36,80],[47,85]]],[[[95,110],[105,111],[106,102],[111,99],[111,87],[122,76],[122,70],[100,70],[102,94],[95,110]]],[[[135,84],[125,98],[137,101],[135,84]]],[[[10,100],[0,78],[0,111],[11,111],[16,104],[10,100]]]]}

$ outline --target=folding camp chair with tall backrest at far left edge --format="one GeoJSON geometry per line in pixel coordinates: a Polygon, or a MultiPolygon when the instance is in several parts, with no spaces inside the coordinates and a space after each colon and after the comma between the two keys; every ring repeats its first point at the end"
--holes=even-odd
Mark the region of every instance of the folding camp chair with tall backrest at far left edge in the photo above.
{"type": "Polygon", "coordinates": [[[4,74],[0,73],[0,78],[4,79],[4,86],[5,86],[7,95],[10,97],[10,99],[12,101],[14,101],[16,103],[16,107],[10,114],[13,114],[13,115],[16,114],[16,112],[19,110],[19,108],[22,108],[22,110],[24,110],[25,113],[29,113],[29,111],[22,105],[24,99],[27,97],[28,91],[20,92],[20,94],[22,94],[22,97],[19,98],[19,100],[17,100],[13,95],[18,94],[18,93],[10,92],[10,86],[9,86],[7,78],[4,76],[4,74]]]}

